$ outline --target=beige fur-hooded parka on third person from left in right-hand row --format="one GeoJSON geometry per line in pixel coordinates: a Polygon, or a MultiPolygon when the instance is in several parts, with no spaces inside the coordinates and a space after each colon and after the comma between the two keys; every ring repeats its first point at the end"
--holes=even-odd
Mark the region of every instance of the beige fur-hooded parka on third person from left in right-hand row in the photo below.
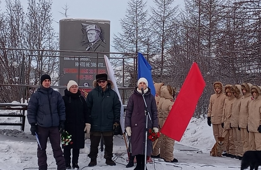
{"type": "Polygon", "coordinates": [[[235,100],[232,105],[231,127],[238,128],[240,106],[241,106],[241,101],[243,99],[241,85],[240,84],[232,85],[231,92],[236,94],[235,100]]]}

